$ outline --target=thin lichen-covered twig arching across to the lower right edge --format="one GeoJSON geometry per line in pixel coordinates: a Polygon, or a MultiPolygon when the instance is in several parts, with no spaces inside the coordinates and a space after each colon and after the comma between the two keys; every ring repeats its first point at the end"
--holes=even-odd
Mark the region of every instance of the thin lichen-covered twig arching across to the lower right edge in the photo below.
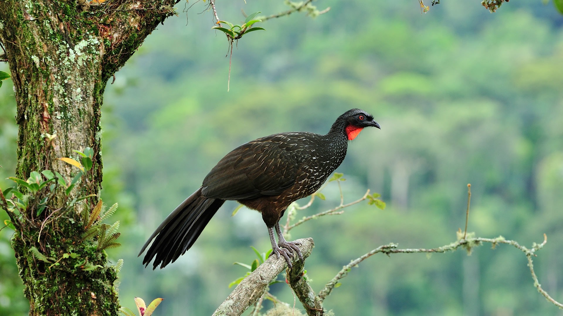
{"type": "Polygon", "coordinates": [[[376,249],[369,251],[367,254],[364,254],[360,258],[352,260],[349,264],[345,265],[342,268],[342,270],[340,270],[336,274],[336,276],[334,276],[334,278],[332,280],[330,280],[330,282],[328,282],[327,285],[324,286],[323,290],[321,290],[319,292],[319,298],[320,298],[321,301],[323,301],[325,299],[325,297],[327,297],[330,294],[330,292],[333,290],[334,286],[336,286],[336,283],[339,281],[339,279],[346,277],[346,275],[348,274],[348,272],[350,272],[350,269],[352,267],[355,267],[361,261],[364,261],[365,259],[369,258],[370,256],[377,254],[378,252],[382,252],[383,254],[386,254],[386,255],[389,255],[389,254],[413,254],[413,253],[417,253],[417,252],[427,252],[427,253],[446,252],[446,251],[457,250],[460,246],[464,247],[467,250],[471,250],[471,247],[480,246],[481,243],[483,243],[483,242],[491,243],[493,245],[493,248],[498,243],[506,243],[507,245],[512,245],[512,246],[516,247],[517,249],[520,249],[522,252],[524,252],[524,254],[526,255],[526,258],[528,258],[528,267],[530,268],[531,277],[534,281],[534,286],[538,289],[538,292],[540,294],[542,294],[544,297],[546,297],[546,299],[549,300],[554,305],[558,306],[559,308],[563,308],[563,304],[559,303],[558,301],[553,299],[551,296],[549,296],[549,294],[547,294],[547,292],[545,290],[543,290],[542,286],[539,284],[538,277],[536,276],[536,274],[534,272],[533,260],[531,259],[532,256],[536,256],[535,252],[537,250],[542,249],[542,247],[544,245],[546,245],[546,243],[547,243],[547,235],[546,234],[543,234],[543,242],[540,243],[540,244],[534,243],[533,246],[531,247],[531,249],[528,249],[524,246],[521,246],[516,241],[505,240],[504,237],[502,237],[502,236],[499,236],[497,238],[477,237],[477,238],[469,238],[468,240],[463,239],[463,240],[458,240],[456,242],[450,243],[449,245],[445,245],[445,246],[441,246],[441,247],[437,247],[437,248],[432,248],[432,249],[423,249],[423,248],[420,248],[420,249],[397,249],[397,245],[395,243],[390,243],[388,245],[379,246],[376,249]]]}

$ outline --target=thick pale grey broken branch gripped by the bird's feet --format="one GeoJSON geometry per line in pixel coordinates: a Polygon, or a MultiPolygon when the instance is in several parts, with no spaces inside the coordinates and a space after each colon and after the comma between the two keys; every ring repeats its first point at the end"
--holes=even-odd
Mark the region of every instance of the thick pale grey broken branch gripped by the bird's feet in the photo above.
{"type": "MultiPolygon", "coordinates": [[[[297,241],[301,242],[301,253],[303,254],[303,260],[305,260],[311,254],[314,242],[312,238],[297,241]]],[[[302,274],[303,264],[301,260],[299,260],[297,256],[294,256],[292,261],[293,269],[290,271],[290,275],[292,275],[292,271],[295,274],[302,274]]],[[[227,299],[215,310],[213,316],[238,316],[242,314],[248,306],[260,299],[264,292],[266,292],[266,288],[270,285],[270,282],[285,268],[287,268],[287,263],[285,263],[284,258],[270,256],[269,259],[256,268],[248,277],[240,281],[235,290],[233,290],[233,292],[227,296],[227,299]]]]}

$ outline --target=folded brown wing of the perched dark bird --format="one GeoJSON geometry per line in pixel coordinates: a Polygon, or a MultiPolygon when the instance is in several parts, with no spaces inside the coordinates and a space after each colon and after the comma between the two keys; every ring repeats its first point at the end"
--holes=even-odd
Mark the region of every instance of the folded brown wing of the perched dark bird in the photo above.
{"type": "Polygon", "coordinates": [[[209,172],[202,194],[224,200],[279,195],[296,182],[306,160],[303,147],[294,137],[283,134],[245,143],[209,172]]]}

